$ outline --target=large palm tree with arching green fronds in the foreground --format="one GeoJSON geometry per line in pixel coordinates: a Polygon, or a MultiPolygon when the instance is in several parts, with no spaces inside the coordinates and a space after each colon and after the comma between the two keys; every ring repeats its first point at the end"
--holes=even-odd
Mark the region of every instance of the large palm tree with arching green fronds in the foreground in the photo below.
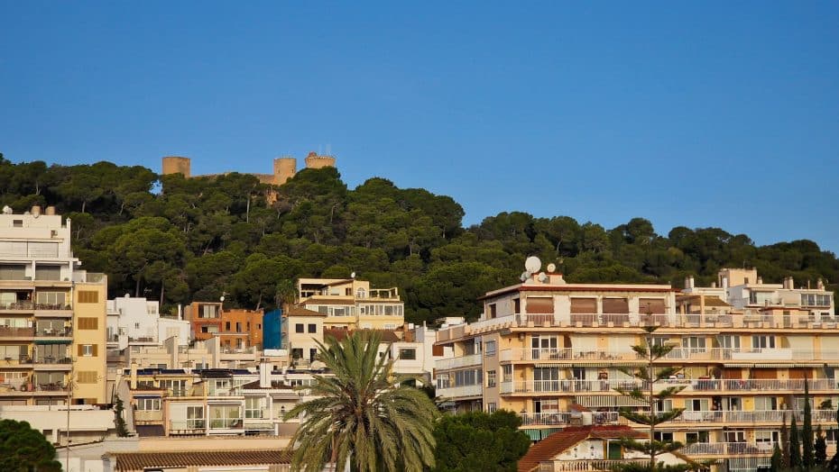
{"type": "Polygon", "coordinates": [[[286,419],[302,414],[291,439],[292,470],[320,472],[347,463],[354,471],[420,471],[434,466],[434,422],[438,412],[428,395],[403,386],[393,361],[379,354],[376,333],[355,333],[318,342],[318,359],[332,376],[315,376],[307,388],[316,396],[295,406],[286,419]]]}

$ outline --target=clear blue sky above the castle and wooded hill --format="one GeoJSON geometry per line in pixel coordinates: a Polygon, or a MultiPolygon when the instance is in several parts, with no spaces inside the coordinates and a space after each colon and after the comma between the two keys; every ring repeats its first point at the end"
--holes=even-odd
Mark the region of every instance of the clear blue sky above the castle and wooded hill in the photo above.
{"type": "Polygon", "coordinates": [[[194,173],[331,149],[466,223],[567,214],[839,251],[836,2],[0,0],[0,152],[194,173]],[[398,5],[394,5],[398,4],[398,5]]]}

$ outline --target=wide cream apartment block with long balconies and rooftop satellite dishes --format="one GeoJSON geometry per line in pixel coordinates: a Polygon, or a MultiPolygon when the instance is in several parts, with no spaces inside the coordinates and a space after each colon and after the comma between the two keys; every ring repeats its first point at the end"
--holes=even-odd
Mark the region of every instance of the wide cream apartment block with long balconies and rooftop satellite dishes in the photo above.
{"type": "Polygon", "coordinates": [[[659,407],[686,411],[657,437],[689,444],[690,457],[724,459],[726,469],[768,463],[783,419],[802,421],[805,379],[814,425],[833,427],[839,324],[823,289],[740,281],[733,269],[721,271],[720,286],[684,292],[571,284],[539,268],[481,297],[480,321],[438,331],[450,357],[437,362],[437,393],[453,408],[520,413],[533,440],[572,425],[640,428],[618,410],[641,404],[614,389],[639,385],[621,369],[643,365],[632,345],[646,340],[675,346],[658,364],[681,371],[659,387],[684,390],[659,407]],[[783,297],[741,302],[764,288],[783,297]],[[647,336],[646,326],[658,330],[647,336]]]}

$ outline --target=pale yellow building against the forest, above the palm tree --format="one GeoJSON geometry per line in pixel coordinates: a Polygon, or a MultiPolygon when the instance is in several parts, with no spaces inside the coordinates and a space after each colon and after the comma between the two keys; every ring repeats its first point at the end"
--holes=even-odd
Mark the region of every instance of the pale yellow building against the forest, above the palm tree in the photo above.
{"type": "Polygon", "coordinates": [[[323,313],[327,328],[395,330],[404,322],[399,289],[371,288],[355,278],[300,278],[298,304],[323,313]]]}

